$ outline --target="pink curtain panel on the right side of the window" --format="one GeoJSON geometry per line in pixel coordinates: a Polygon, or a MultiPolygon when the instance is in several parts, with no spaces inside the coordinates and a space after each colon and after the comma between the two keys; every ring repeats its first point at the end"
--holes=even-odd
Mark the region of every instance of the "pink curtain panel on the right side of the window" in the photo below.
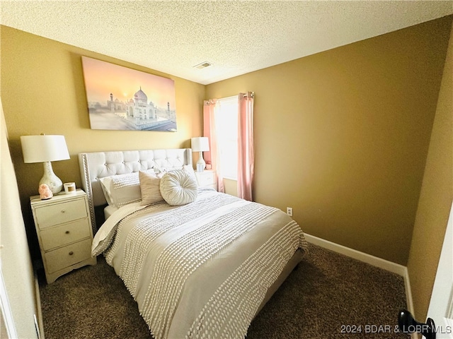
{"type": "Polygon", "coordinates": [[[253,101],[254,93],[239,93],[238,97],[238,196],[253,201],[253,101]]]}

